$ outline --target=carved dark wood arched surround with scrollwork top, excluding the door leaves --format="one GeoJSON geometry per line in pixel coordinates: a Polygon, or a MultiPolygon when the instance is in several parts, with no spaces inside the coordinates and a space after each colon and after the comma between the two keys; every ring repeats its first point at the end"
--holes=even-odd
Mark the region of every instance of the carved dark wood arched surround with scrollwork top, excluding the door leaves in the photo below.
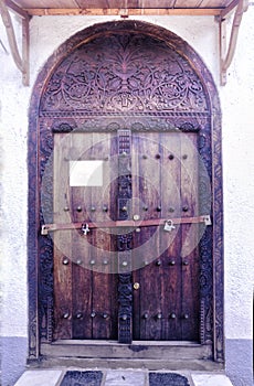
{"type": "Polygon", "coordinates": [[[52,336],[52,245],[41,238],[36,242],[43,222],[36,173],[40,170],[43,174],[53,133],[178,128],[199,132],[200,154],[216,196],[212,208],[216,223],[201,243],[205,253],[201,261],[200,336],[202,343],[212,342],[214,360],[223,361],[220,125],[211,74],[184,41],[162,28],[138,21],[96,24],[71,37],[49,58],[38,76],[30,110],[30,358],[39,356],[40,340],[51,341],[52,336]],[[32,161],[34,154],[38,164],[32,161]]]}

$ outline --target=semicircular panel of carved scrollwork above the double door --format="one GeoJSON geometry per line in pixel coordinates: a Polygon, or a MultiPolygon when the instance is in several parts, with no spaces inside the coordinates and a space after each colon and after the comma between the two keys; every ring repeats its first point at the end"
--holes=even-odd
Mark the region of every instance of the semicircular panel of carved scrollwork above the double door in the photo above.
{"type": "Polygon", "coordinates": [[[208,114],[203,85],[166,42],[110,34],[81,45],[51,76],[40,112],[50,115],[208,114]]]}

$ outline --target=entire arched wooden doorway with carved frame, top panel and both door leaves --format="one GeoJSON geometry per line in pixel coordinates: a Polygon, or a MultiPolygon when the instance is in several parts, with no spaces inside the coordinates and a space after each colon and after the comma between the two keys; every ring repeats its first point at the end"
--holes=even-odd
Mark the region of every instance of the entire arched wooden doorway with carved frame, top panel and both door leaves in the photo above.
{"type": "Polygon", "coordinates": [[[113,339],[223,361],[220,121],[208,68],[168,30],[96,24],[49,58],[30,108],[31,360],[113,339]]]}

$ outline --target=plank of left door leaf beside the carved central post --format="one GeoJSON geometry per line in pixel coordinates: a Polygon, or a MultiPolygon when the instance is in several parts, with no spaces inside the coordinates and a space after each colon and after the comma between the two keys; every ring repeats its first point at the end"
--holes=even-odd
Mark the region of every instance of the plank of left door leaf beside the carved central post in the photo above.
{"type": "MultiPolygon", "coordinates": [[[[104,212],[104,207],[110,206],[110,190],[105,187],[109,183],[109,153],[110,135],[93,133],[91,149],[93,160],[104,161],[103,186],[91,186],[89,218],[96,222],[105,221],[110,213],[104,212]]],[[[112,208],[116,211],[115,208],[112,208]]],[[[114,256],[112,257],[110,233],[105,229],[93,229],[92,259],[95,261],[93,269],[93,309],[96,317],[93,319],[93,339],[117,339],[117,277],[110,275],[114,271],[114,256]]]]}

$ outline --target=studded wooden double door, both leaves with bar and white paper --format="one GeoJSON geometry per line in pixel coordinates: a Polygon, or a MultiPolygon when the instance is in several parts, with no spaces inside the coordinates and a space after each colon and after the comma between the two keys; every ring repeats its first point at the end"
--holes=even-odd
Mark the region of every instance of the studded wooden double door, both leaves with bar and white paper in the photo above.
{"type": "Polygon", "coordinates": [[[55,133],[53,169],[54,340],[198,341],[197,133],[55,133]]]}

